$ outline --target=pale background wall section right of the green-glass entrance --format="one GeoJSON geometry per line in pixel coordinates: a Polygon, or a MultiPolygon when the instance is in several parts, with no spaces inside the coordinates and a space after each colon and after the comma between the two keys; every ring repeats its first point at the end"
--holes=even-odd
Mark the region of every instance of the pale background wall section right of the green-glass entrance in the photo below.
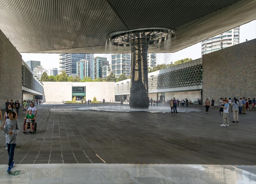
{"type": "Polygon", "coordinates": [[[110,99],[115,99],[115,82],[85,82],[86,99],[93,101],[95,96],[97,101],[105,99],[109,102],[110,99]]]}

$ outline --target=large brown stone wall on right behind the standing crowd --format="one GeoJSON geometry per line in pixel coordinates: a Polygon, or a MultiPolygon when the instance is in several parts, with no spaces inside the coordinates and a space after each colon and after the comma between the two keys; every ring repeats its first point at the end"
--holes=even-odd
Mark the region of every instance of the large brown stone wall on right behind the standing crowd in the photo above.
{"type": "Polygon", "coordinates": [[[203,99],[256,97],[256,39],[203,55],[203,99]]]}

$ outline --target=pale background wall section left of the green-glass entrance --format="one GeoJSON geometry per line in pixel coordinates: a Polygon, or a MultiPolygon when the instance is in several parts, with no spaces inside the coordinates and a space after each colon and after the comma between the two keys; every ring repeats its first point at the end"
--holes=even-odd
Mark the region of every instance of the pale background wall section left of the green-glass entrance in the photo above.
{"type": "Polygon", "coordinates": [[[72,101],[72,82],[43,82],[46,102],[72,101]]]}

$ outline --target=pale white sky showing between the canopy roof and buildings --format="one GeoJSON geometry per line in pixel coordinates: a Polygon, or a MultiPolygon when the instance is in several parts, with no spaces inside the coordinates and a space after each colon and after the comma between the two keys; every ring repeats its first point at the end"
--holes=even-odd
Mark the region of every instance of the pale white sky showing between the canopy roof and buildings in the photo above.
{"type": "MultiPolygon", "coordinates": [[[[253,40],[256,38],[256,20],[240,26],[239,43],[245,42],[246,39],[253,40]]],[[[59,69],[59,56],[58,54],[37,54],[37,53],[20,53],[22,59],[26,62],[29,60],[41,61],[44,69],[51,68],[59,69]]],[[[111,61],[111,54],[94,54],[94,57],[107,57],[111,61]]],[[[197,43],[190,47],[184,48],[175,53],[159,53],[157,54],[157,64],[169,64],[179,59],[192,58],[198,59],[201,57],[201,43],[197,43]]]]}

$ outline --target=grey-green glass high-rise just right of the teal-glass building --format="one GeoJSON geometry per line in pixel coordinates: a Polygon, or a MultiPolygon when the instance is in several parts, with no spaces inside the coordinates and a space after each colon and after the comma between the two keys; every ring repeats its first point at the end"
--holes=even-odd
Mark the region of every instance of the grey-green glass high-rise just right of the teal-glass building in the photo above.
{"type": "Polygon", "coordinates": [[[108,65],[106,57],[95,57],[93,59],[93,80],[102,78],[102,66],[108,65]]]}

